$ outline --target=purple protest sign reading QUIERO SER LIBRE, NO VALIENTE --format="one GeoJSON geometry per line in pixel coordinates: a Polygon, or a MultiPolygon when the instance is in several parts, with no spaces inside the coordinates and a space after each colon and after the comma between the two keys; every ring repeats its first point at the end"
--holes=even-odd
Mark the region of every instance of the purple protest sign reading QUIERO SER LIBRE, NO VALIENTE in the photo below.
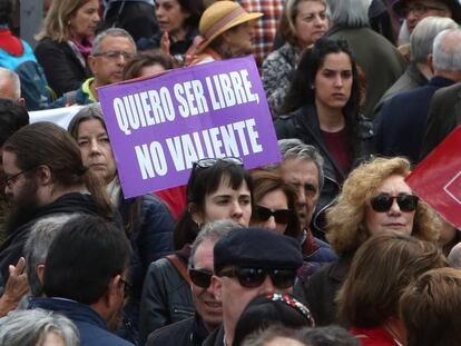
{"type": "Polygon", "coordinates": [[[193,162],[281,160],[252,57],[204,63],[98,89],[126,198],[187,184],[193,162]]]}

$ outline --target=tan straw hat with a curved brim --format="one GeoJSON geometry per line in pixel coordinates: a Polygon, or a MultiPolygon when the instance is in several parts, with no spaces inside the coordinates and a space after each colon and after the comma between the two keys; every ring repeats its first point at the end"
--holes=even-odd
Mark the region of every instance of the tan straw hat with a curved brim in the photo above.
{"type": "Polygon", "coordinates": [[[204,50],[215,38],[228,29],[262,16],[263,13],[259,12],[248,13],[234,1],[216,1],[202,14],[198,30],[205,40],[199,45],[197,51],[204,50]]]}

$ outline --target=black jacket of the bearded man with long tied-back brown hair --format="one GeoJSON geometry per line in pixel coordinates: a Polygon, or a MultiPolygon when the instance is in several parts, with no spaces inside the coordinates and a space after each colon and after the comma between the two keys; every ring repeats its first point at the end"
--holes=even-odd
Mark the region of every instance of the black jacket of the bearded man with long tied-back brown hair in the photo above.
{"type": "Polygon", "coordinates": [[[66,194],[53,202],[37,209],[28,219],[21,220],[20,225],[16,225],[7,240],[0,247],[0,286],[4,284],[9,277],[9,265],[16,265],[19,257],[23,255],[23,247],[32,226],[41,218],[57,214],[86,214],[97,215],[96,204],[88,194],[71,192],[66,194]]]}

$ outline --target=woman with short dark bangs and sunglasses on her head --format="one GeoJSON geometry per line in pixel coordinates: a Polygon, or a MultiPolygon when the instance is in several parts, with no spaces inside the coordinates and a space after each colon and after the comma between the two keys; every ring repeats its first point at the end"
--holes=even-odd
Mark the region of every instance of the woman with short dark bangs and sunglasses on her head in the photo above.
{"type": "Polygon", "coordinates": [[[202,159],[187,184],[187,205],[174,231],[175,255],[149,266],[143,289],[140,343],[171,323],[193,316],[187,274],[190,244],[203,226],[228,219],[247,227],[252,216],[252,178],[238,158],[202,159]]]}

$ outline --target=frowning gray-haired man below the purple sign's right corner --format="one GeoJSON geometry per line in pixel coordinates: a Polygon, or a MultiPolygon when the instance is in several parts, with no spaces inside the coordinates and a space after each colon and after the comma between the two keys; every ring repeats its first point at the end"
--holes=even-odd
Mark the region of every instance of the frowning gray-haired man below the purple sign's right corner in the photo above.
{"type": "Polygon", "coordinates": [[[292,138],[278,140],[278,148],[283,161],[277,166],[277,170],[297,192],[300,223],[304,228],[301,239],[304,260],[320,264],[337,260],[330,245],[314,235],[324,238],[322,214],[333,204],[336,195],[331,194],[337,194],[339,186],[333,186],[334,181],[325,179],[323,158],[315,147],[292,138]]]}

